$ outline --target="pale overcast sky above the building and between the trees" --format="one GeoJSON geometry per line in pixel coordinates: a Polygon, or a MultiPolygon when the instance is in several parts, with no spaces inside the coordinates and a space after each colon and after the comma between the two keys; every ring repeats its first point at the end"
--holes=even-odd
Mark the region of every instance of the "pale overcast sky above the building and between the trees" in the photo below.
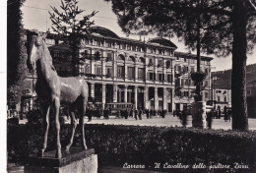
{"type": "MultiPolygon", "coordinates": [[[[48,15],[48,10],[51,10],[50,6],[59,9],[60,0],[26,0],[24,7],[22,8],[24,13],[24,25],[26,29],[38,29],[40,31],[46,31],[46,29],[51,30],[51,22],[48,15]]],[[[117,35],[121,37],[126,37],[125,33],[121,31],[117,24],[117,18],[111,10],[111,4],[105,2],[104,0],[83,0],[79,1],[79,8],[86,10],[84,15],[88,15],[93,11],[98,11],[96,17],[92,18],[95,21],[95,26],[100,26],[106,29],[114,31],[117,35]]],[[[146,37],[154,37],[150,35],[146,37]]],[[[130,38],[138,39],[138,36],[131,36],[130,38]]],[[[188,52],[183,42],[179,42],[177,38],[170,39],[173,43],[177,45],[177,51],[188,52]]],[[[195,52],[193,52],[195,53],[195,52]]],[[[222,71],[231,69],[231,56],[226,58],[217,58],[212,61],[213,71],[222,71]]],[[[247,65],[256,63],[256,50],[252,55],[247,55],[247,65]]]]}

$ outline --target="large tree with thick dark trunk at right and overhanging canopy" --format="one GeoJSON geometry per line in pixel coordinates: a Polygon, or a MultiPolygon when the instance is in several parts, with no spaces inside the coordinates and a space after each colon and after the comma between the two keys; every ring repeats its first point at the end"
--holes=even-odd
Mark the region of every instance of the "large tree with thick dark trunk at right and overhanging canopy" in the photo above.
{"type": "Polygon", "coordinates": [[[248,129],[245,66],[246,51],[256,42],[255,0],[106,1],[112,2],[118,24],[127,34],[176,34],[198,52],[220,57],[231,53],[232,129],[248,129]]]}

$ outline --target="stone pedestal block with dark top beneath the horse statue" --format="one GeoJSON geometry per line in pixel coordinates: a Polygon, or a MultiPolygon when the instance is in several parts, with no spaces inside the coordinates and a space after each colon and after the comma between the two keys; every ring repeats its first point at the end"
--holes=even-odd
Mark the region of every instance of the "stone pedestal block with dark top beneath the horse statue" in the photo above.
{"type": "Polygon", "coordinates": [[[62,150],[62,158],[55,158],[55,150],[42,157],[30,156],[25,165],[25,173],[96,173],[97,155],[95,149],[83,150],[71,147],[69,152],[62,150]]]}

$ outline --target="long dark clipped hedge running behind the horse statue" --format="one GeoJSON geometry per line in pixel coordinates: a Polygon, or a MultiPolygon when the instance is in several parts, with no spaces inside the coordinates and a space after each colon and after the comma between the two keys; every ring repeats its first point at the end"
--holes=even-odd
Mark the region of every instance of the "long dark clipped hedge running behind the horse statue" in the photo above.
{"type": "MultiPolygon", "coordinates": [[[[190,168],[197,163],[208,168],[220,164],[231,167],[212,169],[214,172],[226,170],[240,173],[256,170],[256,133],[253,131],[94,124],[85,125],[85,128],[87,144],[96,149],[99,165],[122,167],[129,163],[146,165],[150,169],[154,168],[156,163],[160,163],[160,168],[164,163],[189,165],[190,168]],[[248,166],[249,169],[234,169],[235,163],[248,166]]],[[[68,144],[70,133],[70,126],[61,127],[62,146],[68,144]]],[[[55,147],[53,134],[49,133],[48,149],[55,147]]],[[[36,146],[42,143],[41,128],[36,125],[10,126],[7,142],[8,162],[25,164],[28,156],[37,152],[36,146]]],[[[80,132],[77,133],[74,144],[81,144],[80,132]]],[[[181,169],[171,170],[180,172],[181,169]]]]}

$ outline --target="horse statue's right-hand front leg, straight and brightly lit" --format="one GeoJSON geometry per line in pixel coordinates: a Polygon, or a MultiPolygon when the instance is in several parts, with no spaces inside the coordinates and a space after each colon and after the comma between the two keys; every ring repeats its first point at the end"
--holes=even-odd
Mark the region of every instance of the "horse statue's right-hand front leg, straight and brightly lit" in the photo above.
{"type": "Polygon", "coordinates": [[[55,96],[54,101],[54,111],[55,111],[55,125],[56,125],[56,158],[61,158],[61,144],[60,144],[60,123],[59,123],[59,108],[60,108],[60,100],[59,97],[55,96]]]}

